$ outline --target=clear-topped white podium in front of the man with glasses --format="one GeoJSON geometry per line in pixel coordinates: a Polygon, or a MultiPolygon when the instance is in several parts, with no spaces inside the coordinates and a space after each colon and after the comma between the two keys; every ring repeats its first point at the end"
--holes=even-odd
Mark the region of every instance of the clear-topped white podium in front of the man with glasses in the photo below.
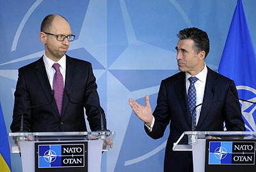
{"type": "Polygon", "coordinates": [[[100,172],[102,152],[109,150],[115,132],[15,132],[9,136],[15,139],[11,152],[21,154],[22,171],[100,172]]]}

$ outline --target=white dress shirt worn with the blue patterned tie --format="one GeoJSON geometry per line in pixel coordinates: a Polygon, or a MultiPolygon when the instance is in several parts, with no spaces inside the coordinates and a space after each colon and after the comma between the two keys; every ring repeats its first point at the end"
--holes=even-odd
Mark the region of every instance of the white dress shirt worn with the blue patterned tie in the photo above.
{"type": "MultiPolygon", "coordinates": [[[[196,88],[196,105],[202,104],[202,102],[203,102],[207,72],[208,72],[207,66],[204,64],[204,69],[201,72],[199,72],[197,75],[193,76],[193,77],[198,78],[198,81],[196,81],[194,84],[195,88],[196,88]]],[[[190,82],[188,80],[189,77],[191,77],[191,75],[189,75],[188,72],[186,72],[187,95],[188,95],[188,88],[190,86],[190,82]]],[[[202,106],[196,107],[196,125],[197,125],[199,117],[200,117],[201,108],[202,108],[202,106]]],[[[153,120],[152,120],[150,127],[145,124],[150,132],[152,131],[152,129],[154,127],[154,123],[155,123],[155,118],[153,116],[153,120]]]]}

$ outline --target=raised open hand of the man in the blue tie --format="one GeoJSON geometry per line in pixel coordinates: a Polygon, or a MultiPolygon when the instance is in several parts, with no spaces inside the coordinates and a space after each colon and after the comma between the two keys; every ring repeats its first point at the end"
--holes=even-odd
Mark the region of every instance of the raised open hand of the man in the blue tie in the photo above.
{"type": "Polygon", "coordinates": [[[132,107],[134,113],[138,116],[138,118],[140,118],[141,121],[144,121],[146,125],[150,126],[153,120],[153,114],[148,95],[145,96],[145,103],[145,106],[141,106],[132,98],[129,98],[129,104],[132,107]]]}

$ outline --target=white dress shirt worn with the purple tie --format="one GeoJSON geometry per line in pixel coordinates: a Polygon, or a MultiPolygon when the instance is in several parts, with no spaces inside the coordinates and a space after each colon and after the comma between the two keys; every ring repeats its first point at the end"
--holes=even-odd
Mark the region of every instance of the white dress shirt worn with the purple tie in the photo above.
{"type": "MultiPolygon", "coordinates": [[[[45,65],[45,70],[46,70],[46,74],[48,77],[48,80],[51,84],[51,88],[52,88],[52,84],[53,84],[53,77],[55,74],[55,69],[52,67],[52,65],[54,63],[56,63],[55,61],[52,61],[51,59],[47,58],[47,56],[43,56],[43,60],[44,60],[44,65],[45,65]]],[[[63,77],[63,84],[65,86],[65,77],[66,77],[66,55],[64,55],[59,61],[57,61],[57,63],[60,65],[60,73],[63,77]]]]}

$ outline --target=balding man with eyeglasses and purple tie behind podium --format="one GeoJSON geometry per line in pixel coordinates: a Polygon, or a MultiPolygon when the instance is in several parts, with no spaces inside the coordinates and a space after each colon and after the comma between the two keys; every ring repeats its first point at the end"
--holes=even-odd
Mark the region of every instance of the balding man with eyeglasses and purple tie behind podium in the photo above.
{"type": "Polygon", "coordinates": [[[65,54],[75,38],[67,19],[48,15],[39,37],[44,56],[19,68],[12,132],[87,131],[84,107],[90,129],[102,128],[100,116],[106,129],[91,63],[65,54]]]}

